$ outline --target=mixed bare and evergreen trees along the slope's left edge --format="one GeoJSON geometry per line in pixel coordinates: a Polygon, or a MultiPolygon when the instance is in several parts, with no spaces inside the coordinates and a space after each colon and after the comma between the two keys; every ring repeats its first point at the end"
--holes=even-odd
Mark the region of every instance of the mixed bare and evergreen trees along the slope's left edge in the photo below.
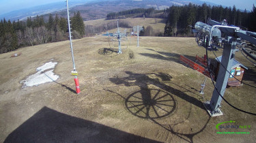
{"type": "MultiPolygon", "coordinates": [[[[85,25],[80,12],[70,18],[74,39],[85,35],[85,25]]],[[[59,42],[68,39],[68,20],[57,14],[50,14],[48,20],[43,16],[28,17],[27,20],[1,20],[0,22],[0,54],[10,52],[24,46],[59,42]]]]}

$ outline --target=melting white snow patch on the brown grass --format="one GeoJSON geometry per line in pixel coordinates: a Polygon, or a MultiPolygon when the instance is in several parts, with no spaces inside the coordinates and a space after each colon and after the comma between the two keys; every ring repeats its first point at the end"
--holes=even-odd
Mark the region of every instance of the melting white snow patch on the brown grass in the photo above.
{"type": "Polygon", "coordinates": [[[37,73],[20,82],[23,83],[23,88],[27,86],[38,86],[46,82],[54,82],[57,80],[59,76],[53,73],[55,65],[57,65],[57,62],[48,62],[41,67],[38,67],[36,69],[38,71],[37,73]]]}

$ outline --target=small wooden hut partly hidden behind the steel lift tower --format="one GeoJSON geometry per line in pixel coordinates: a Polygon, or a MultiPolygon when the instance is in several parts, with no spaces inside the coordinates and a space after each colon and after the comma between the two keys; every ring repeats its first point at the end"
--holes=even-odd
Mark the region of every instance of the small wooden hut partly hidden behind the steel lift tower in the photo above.
{"type": "MultiPolygon", "coordinates": [[[[222,59],[222,56],[217,57],[210,61],[210,69],[213,71],[215,81],[217,80],[217,77],[219,74],[218,70],[219,70],[220,66],[222,66],[220,63],[221,59],[222,59]]],[[[248,69],[248,68],[245,67],[244,65],[242,65],[242,63],[239,63],[238,61],[236,61],[234,59],[232,65],[231,65],[231,71],[230,71],[230,73],[233,76],[231,76],[231,75],[229,76],[227,86],[241,86],[246,69],[248,69]],[[236,79],[238,79],[239,81],[236,79]]]]}

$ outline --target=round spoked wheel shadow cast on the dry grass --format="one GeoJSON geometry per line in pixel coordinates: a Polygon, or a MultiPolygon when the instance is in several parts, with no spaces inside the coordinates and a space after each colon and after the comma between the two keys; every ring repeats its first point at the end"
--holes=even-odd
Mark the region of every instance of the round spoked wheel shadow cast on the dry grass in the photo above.
{"type": "Polygon", "coordinates": [[[173,96],[160,89],[141,89],[130,94],[125,101],[126,108],[140,118],[163,118],[175,110],[173,96]]]}

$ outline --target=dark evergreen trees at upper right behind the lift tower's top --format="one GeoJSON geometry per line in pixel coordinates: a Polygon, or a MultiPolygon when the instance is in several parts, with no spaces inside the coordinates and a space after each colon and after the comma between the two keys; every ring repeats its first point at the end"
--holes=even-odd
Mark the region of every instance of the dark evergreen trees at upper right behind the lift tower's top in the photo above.
{"type": "Polygon", "coordinates": [[[236,25],[256,31],[256,9],[253,5],[253,11],[247,12],[238,10],[234,5],[231,7],[210,6],[206,3],[202,5],[171,6],[167,10],[169,15],[165,25],[165,36],[190,36],[191,29],[197,21],[207,23],[208,18],[221,22],[227,20],[229,25],[236,25]]]}

